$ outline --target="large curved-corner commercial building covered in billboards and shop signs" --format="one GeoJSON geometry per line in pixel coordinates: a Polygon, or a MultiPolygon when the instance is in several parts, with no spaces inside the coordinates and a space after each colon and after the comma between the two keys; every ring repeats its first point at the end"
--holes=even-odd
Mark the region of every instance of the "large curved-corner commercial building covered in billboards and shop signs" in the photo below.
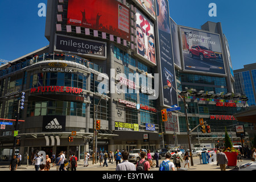
{"type": "MultiPolygon", "coordinates": [[[[10,160],[14,130],[18,152],[30,157],[38,151],[49,156],[66,151],[84,159],[94,146],[96,151],[188,148],[186,117],[191,130],[197,127],[192,144],[223,146],[225,127],[233,143],[241,143],[233,114],[248,105],[229,94],[234,78],[220,23],[207,22],[197,30],[178,26],[168,16],[166,26],[160,21],[166,0],[160,6],[154,0],[145,6],[137,0],[102,1],[116,17],[91,0],[77,2],[48,1],[49,46],[0,66],[1,118],[22,120],[0,131],[1,160],[10,160]],[[105,24],[106,18],[113,22],[105,24]],[[209,42],[195,43],[200,36],[209,42]],[[206,43],[204,56],[191,51],[206,43]],[[209,56],[215,65],[208,68],[203,65],[210,64],[209,56]],[[196,92],[182,95],[185,90],[196,92]],[[169,112],[162,122],[160,111],[172,105],[181,110],[169,112]],[[200,118],[211,133],[201,133],[200,118]],[[97,120],[100,130],[95,130],[97,120]]],[[[249,145],[249,136],[245,139],[249,145]]]]}

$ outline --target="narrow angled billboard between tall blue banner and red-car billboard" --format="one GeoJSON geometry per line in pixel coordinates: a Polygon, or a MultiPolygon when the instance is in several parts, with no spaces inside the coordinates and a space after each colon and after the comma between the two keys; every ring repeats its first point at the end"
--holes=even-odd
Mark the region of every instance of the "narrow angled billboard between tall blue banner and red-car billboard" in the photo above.
{"type": "Polygon", "coordinates": [[[180,46],[179,46],[179,34],[177,31],[177,24],[170,18],[171,23],[171,35],[172,35],[172,51],[174,51],[174,64],[181,69],[180,60],[180,46]]]}

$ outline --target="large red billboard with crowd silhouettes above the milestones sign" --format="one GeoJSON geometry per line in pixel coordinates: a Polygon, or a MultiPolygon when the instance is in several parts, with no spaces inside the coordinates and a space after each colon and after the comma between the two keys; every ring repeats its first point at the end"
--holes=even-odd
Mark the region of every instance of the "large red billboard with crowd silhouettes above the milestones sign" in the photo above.
{"type": "Polygon", "coordinates": [[[69,0],[67,24],[130,41],[130,10],[115,0],[69,0]]]}

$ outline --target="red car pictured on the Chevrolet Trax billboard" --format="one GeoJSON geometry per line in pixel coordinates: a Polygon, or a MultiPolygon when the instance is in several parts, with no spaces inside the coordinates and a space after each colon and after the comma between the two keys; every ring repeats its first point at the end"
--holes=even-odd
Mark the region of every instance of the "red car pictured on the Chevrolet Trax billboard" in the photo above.
{"type": "Polygon", "coordinates": [[[201,61],[204,60],[216,60],[216,54],[213,51],[210,51],[207,47],[193,45],[189,49],[189,55],[192,58],[193,56],[200,57],[201,61]]]}

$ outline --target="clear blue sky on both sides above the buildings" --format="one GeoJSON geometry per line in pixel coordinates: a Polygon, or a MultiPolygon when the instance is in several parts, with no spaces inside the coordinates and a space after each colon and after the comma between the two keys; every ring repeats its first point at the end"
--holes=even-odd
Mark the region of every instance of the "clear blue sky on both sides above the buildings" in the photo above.
{"type": "MultiPolygon", "coordinates": [[[[46,17],[38,16],[47,0],[0,1],[0,59],[14,60],[49,44],[44,37],[46,17]]],[[[177,24],[199,28],[207,21],[221,22],[229,41],[233,69],[256,63],[256,1],[169,0],[170,16],[177,24]],[[208,7],[216,3],[217,16],[208,7]]]]}

